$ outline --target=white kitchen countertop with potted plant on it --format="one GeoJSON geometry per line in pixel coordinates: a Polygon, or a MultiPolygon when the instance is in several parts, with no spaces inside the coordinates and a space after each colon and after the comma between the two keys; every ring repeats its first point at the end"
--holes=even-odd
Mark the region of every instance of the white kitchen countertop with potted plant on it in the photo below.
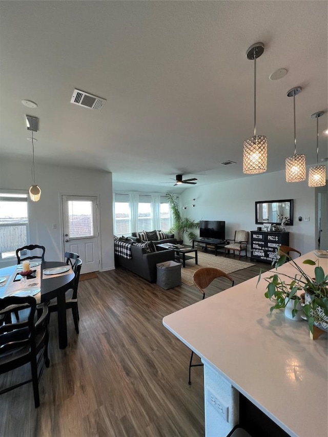
{"type": "MultiPolygon", "coordinates": [[[[297,259],[316,260],[313,252],[297,259]]],[[[328,260],[320,258],[327,273],[328,260]]],[[[314,276],[313,266],[302,268],[314,276]]],[[[279,272],[293,272],[289,264],[279,272]]],[[[271,276],[272,272],[262,275],[271,276]]],[[[292,436],[327,436],[327,335],[270,315],[257,277],[163,318],[163,324],[292,436]]],[[[188,364],[188,363],[187,363],[188,364]]],[[[186,364],[186,365],[187,365],[186,364]]]]}

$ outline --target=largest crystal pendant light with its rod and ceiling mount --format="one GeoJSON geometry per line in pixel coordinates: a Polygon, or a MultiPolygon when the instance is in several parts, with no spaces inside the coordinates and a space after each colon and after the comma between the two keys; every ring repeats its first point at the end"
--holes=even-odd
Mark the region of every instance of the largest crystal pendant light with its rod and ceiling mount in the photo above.
{"type": "Polygon", "coordinates": [[[264,44],[255,43],[246,52],[248,59],[254,59],[254,136],[244,141],[242,171],[257,174],[267,171],[267,137],[256,135],[256,58],[264,52],[264,44]]]}

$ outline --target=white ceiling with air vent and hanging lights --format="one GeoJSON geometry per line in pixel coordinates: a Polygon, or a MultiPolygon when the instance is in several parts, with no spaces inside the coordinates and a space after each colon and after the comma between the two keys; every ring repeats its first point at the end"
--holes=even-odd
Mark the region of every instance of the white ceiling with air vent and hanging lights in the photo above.
{"type": "Polygon", "coordinates": [[[296,86],[297,152],[315,164],[311,114],[325,111],[319,159],[328,155],[325,1],[3,1],[0,24],[0,153],[30,159],[24,114],[39,117],[36,172],[46,161],[102,169],[116,187],[164,192],[172,183],[160,182],[180,173],[198,184],[248,177],[246,51],[258,41],[257,133],[268,137],[268,172],[294,153],[286,93],[296,86]],[[278,68],[288,74],[271,81],[278,68]],[[74,88],[106,98],[103,110],[70,103],[74,88]]]}

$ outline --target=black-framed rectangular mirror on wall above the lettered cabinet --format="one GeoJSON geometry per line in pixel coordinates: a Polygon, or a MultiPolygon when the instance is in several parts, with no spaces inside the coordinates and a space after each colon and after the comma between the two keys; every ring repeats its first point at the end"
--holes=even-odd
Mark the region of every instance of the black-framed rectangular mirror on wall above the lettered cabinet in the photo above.
{"type": "Polygon", "coordinates": [[[281,215],[289,217],[286,225],[291,226],[293,224],[293,199],[255,202],[255,222],[257,224],[280,224],[281,215]]]}

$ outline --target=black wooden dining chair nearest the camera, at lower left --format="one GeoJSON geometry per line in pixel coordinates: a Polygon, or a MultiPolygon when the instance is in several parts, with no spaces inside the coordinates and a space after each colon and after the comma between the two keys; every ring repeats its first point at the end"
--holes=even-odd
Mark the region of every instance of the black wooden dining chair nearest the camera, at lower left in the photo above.
{"type": "Polygon", "coordinates": [[[42,315],[34,322],[35,308],[36,301],[32,296],[9,296],[0,299],[0,312],[4,316],[4,319],[0,321],[0,374],[27,363],[31,365],[30,379],[2,389],[0,394],[32,382],[34,405],[37,408],[40,405],[38,382],[44,366],[49,367],[50,361],[48,357],[48,308],[42,305],[42,315]],[[11,313],[17,308],[27,311],[28,316],[24,321],[13,322],[14,318],[11,313]]]}

